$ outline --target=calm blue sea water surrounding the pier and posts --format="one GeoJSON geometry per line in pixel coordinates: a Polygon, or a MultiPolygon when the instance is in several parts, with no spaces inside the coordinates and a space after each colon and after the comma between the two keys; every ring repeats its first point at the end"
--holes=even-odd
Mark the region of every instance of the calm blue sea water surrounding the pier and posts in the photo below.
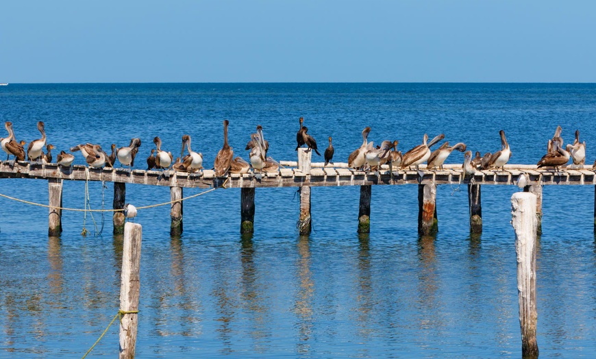
{"type": "MultiPolygon", "coordinates": [[[[0,121],[17,138],[45,121],[57,150],[78,143],[127,145],[140,137],[144,168],[153,136],[179,153],[190,134],[210,166],[221,148],[244,151],[257,124],[277,160],[295,160],[304,116],[309,134],[345,162],[362,142],[400,141],[407,151],[445,133],[472,151],[499,148],[536,163],[556,125],[580,129],[587,163],[596,152],[593,84],[10,84],[0,121]]],[[[4,134],[4,132],[2,132],[4,134]]],[[[4,136],[4,135],[3,135],[4,136]]],[[[54,156],[58,153],[55,151],[54,156]]],[[[462,162],[453,153],[447,162],[462,162]]],[[[76,163],[83,160],[78,155],[76,163]]],[[[92,208],[112,206],[112,186],[92,183],[92,208]],[[103,196],[103,197],[102,197],[103,196]]],[[[514,186],[482,189],[484,233],[471,238],[467,193],[440,186],[440,232],[417,236],[417,187],[373,188],[371,234],[358,236],[359,188],[314,188],[314,232],[295,230],[295,188],[257,190],[255,234],[240,238],[240,192],[217,190],[184,203],[184,235],[169,236],[169,208],[140,211],[143,225],[136,353],[140,358],[519,358],[514,186]]],[[[199,190],[185,189],[184,195],[199,190]]],[[[47,203],[43,180],[1,180],[0,193],[47,203]]],[[[538,245],[538,346],[543,357],[596,356],[593,186],[544,188],[538,245]]],[[[137,206],[169,201],[169,188],[127,186],[137,206]]],[[[0,199],[0,357],[80,358],[119,307],[122,238],[111,217],[63,215],[48,238],[47,209],[0,199]],[[86,222],[85,222],[86,221],[86,222]],[[99,236],[80,235],[85,226],[99,236]],[[97,224],[97,230],[95,224],[97,224]]],[[[65,182],[64,206],[84,206],[84,184],[65,182]]],[[[113,357],[113,325],[93,356],[113,357]]]]}

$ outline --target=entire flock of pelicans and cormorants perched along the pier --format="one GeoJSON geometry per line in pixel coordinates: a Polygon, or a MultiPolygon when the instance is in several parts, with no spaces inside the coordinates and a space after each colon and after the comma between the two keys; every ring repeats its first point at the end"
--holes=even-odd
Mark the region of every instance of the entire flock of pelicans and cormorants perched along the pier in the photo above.
{"type": "MultiPolygon", "coordinates": [[[[319,149],[316,146],[316,140],[308,134],[308,128],[303,124],[303,117],[300,117],[300,129],[296,134],[297,147],[296,151],[305,146],[307,151],[312,151],[321,156],[319,149]]],[[[214,161],[213,169],[218,177],[226,175],[227,173],[248,173],[252,167],[253,171],[260,172],[275,172],[280,169],[281,165],[267,156],[269,151],[269,142],[264,139],[263,128],[258,125],[256,132],[250,135],[250,140],[246,145],[246,150],[249,150],[249,161],[243,160],[240,156],[234,158],[234,150],[229,146],[227,141],[227,127],[229,121],[223,121],[223,147],[217,153],[214,161]]],[[[7,160],[10,156],[18,161],[28,161],[51,163],[53,157],[51,150],[55,147],[47,144],[45,134],[45,125],[39,121],[37,128],[41,134],[41,138],[32,140],[25,151],[24,140],[17,141],[14,136],[14,129],[11,122],[5,123],[5,128],[8,131],[8,137],[0,138],[2,149],[8,153],[7,160]],[[44,152],[46,149],[46,152],[44,152]]],[[[559,169],[569,162],[571,158],[573,164],[583,165],[586,161],[586,143],[580,142],[580,132],[575,131],[575,140],[573,145],[571,143],[564,147],[563,139],[561,138],[562,128],[558,126],[555,130],[553,138],[548,140],[547,153],[540,161],[538,161],[538,168],[554,167],[559,169]]],[[[473,175],[475,171],[480,169],[501,168],[504,169],[505,164],[511,157],[511,149],[507,143],[505,132],[501,130],[501,149],[495,153],[487,152],[481,156],[480,151],[476,151],[475,157],[472,158],[472,152],[466,151],[467,146],[464,143],[456,143],[454,146],[449,146],[449,142],[443,143],[438,149],[431,151],[431,147],[436,145],[440,140],[445,138],[445,135],[440,134],[432,140],[428,141],[427,134],[424,134],[422,144],[410,149],[406,153],[397,151],[398,140],[384,140],[381,145],[375,146],[373,141],[368,141],[371,127],[366,127],[362,130],[362,145],[355,151],[350,153],[348,158],[348,166],[353,169],[375,170],[378,171],[380,166],[388,164],[389,169],[393,172],[395,169],[406,169],[415,166],[419,171],[419,165],[427,162],[428,169],[443,168],[443,164],[452,151],[457,150],[464,153],[464,164],[462,169],[465,175],[473,175]]],[[[156,148],[151,149],[151,154],[147,158],[147,170],[162,169],[180,172],[196,172],[203,169],[203,154],[195,152],[190,147],[191,139],[188,134],[182,136],[182,151],[180,156],[173,159],[170,151],[162,149],[162,141],[156,136],[153,138],[153,143],[156,148]],[[184,156],[184,150],[188,154],[184,156]]],[[[126,147],[116,148],[112,144],[112,153],[108,155],[100,145],[84,143],[70,148],[71,153],[60,151],[57,156],[56,163],[60,166],[71,166],[75,157],[73,152],[80,151],[84,156],[86,163],[90,167],[101,168],[103,166],[114,167],[116,159],[121,163],[121,166],[128,166],[132,169],[134,166],[134,159],[138,153],[138,148],[141,145],[140,138],[132,138],[126,147]]],[[[332,145],[332,138],[329,137],[329,146],[325,149],[324,158],[325,166],[333,164],[334,147],[332,145]]],[[[596,162],[595,162],[596,165],[596,162]]],[[[421,173],[419,171],[419,173],[421,173]]]]}

